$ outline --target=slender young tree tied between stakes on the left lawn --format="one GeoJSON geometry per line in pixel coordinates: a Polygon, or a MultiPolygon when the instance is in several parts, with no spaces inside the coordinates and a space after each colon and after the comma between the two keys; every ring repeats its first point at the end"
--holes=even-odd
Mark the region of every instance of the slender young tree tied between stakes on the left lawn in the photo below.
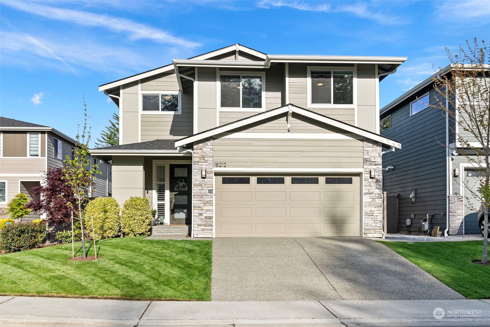
{"type": "MultiPolygon", "coordinates": [[[[66,156],[64,161],[65,167],[63,169],[63,181],[67,186],[69,186],[73,192],[75,203],[72,204],[75,211],[75,219],[80,221],[80,228],[82,230],[82,250],[83,257],[87,257],[85,252],[85,237],[83,233],[83,204],[88,200],[89,190],[94,187],[94,176],[96,173],[101,174],[98,170],[98,165],[91,165],[90,154],[89,154],[89,142],[90,142],[90,130],[91,128],[87,126],[87,104],[85,103],[85,97],[83,97],[84,106],[84,123],[82,127],[82,133],[80,135],[80,130],[76,135],[75,147],[73,149],[73,160],[70,156],[66,156]],[[76,205],[76,206],[75,206],[76,205]]],[[[80,125],[78,125],[80,128],[80,125]]]]}

